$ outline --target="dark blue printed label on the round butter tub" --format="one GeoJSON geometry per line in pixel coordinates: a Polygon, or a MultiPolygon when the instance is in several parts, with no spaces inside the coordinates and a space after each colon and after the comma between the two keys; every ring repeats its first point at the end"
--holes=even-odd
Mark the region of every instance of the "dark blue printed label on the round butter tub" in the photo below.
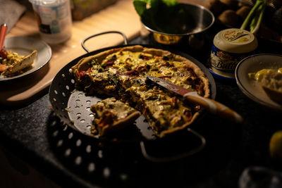
{"type": "Polygon", "coordinates": [[[212,52],[210,58],[210,66],[214,73],[234,77],[235,68],[240,60],[245,58],[247,54],[233,54],[222,51],[214,44],[212,45],[212,52]]]}

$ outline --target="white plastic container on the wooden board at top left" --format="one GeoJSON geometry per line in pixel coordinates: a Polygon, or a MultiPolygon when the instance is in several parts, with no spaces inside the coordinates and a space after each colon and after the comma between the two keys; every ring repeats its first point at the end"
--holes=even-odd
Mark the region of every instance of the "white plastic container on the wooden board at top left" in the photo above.
{"type": "Polygon", "coordinates": [[[59,44],[71,37],[70,0],[29,0],[32,3],[42,39],[59,44]]]}

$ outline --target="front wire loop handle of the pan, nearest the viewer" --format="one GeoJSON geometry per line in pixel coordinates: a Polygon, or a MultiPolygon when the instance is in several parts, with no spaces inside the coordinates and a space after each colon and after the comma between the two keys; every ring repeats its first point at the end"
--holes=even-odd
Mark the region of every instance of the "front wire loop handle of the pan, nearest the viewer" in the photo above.
{"type": "Polygon", "coordinates": [[[201,141],[200,146],[197,146],[195,149],[192,149],[192,150],[184,152],[184,153],[177,154],[175,156],[169,156],[169,157],[161,158],[161,157],[150,156],[149,153],[147,153],[147,151],[146,151],[145,143],[143,141],[140,141],[140,147],[141,147],[142,155],[147,160],[152,161],[152,162],[169,162],[169,161],[176,161],[180,158],[192,156],[193,154],[201,151],[204,148],[204,146],[206,145],[206,139],[204,139],[204,137],[201,134],[199,134],[198,132],[196,132],[195,130],[191,130],[190,128],[188,128],[187,130],[189,132],[191,132],[192,134],[195,134],[195,136],[200,139],[200,141],[201,141]]]}

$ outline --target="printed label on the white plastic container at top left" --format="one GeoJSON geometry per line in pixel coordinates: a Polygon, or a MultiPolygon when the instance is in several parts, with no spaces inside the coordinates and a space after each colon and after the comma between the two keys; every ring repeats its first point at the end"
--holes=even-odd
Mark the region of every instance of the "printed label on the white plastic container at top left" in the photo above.
{"type": "Polygon", "coordinates": [[[46,34],[62,32],[71,25],[70,10],[67,2],[58,6],[37,6],[35,15],[39,25],[39,31],[46,34]]]}

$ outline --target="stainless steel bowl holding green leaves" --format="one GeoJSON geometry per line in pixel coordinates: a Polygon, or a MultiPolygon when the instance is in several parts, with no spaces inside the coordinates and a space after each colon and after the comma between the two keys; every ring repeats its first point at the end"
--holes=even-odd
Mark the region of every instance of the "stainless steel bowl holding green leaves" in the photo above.
{"type": "MultiPolygon", "coordinates": [[[[204,32],[214,24],[214,14],[204,6],[197,4],[178,4],[178,6],[185,11],[185,18],[175,18],[172,19],[172,23],[168,23],[178,32],[163,32],[154,27],[148,20],[141,19],[142,25],[153,33],[154,39],[160,44],[177,44],[183,37],[187,36],[190,37],[190,41],[195,38],[195,35],[204,32]]],[[[150,21],[153,22],[154,20],[150,21]]]]}

